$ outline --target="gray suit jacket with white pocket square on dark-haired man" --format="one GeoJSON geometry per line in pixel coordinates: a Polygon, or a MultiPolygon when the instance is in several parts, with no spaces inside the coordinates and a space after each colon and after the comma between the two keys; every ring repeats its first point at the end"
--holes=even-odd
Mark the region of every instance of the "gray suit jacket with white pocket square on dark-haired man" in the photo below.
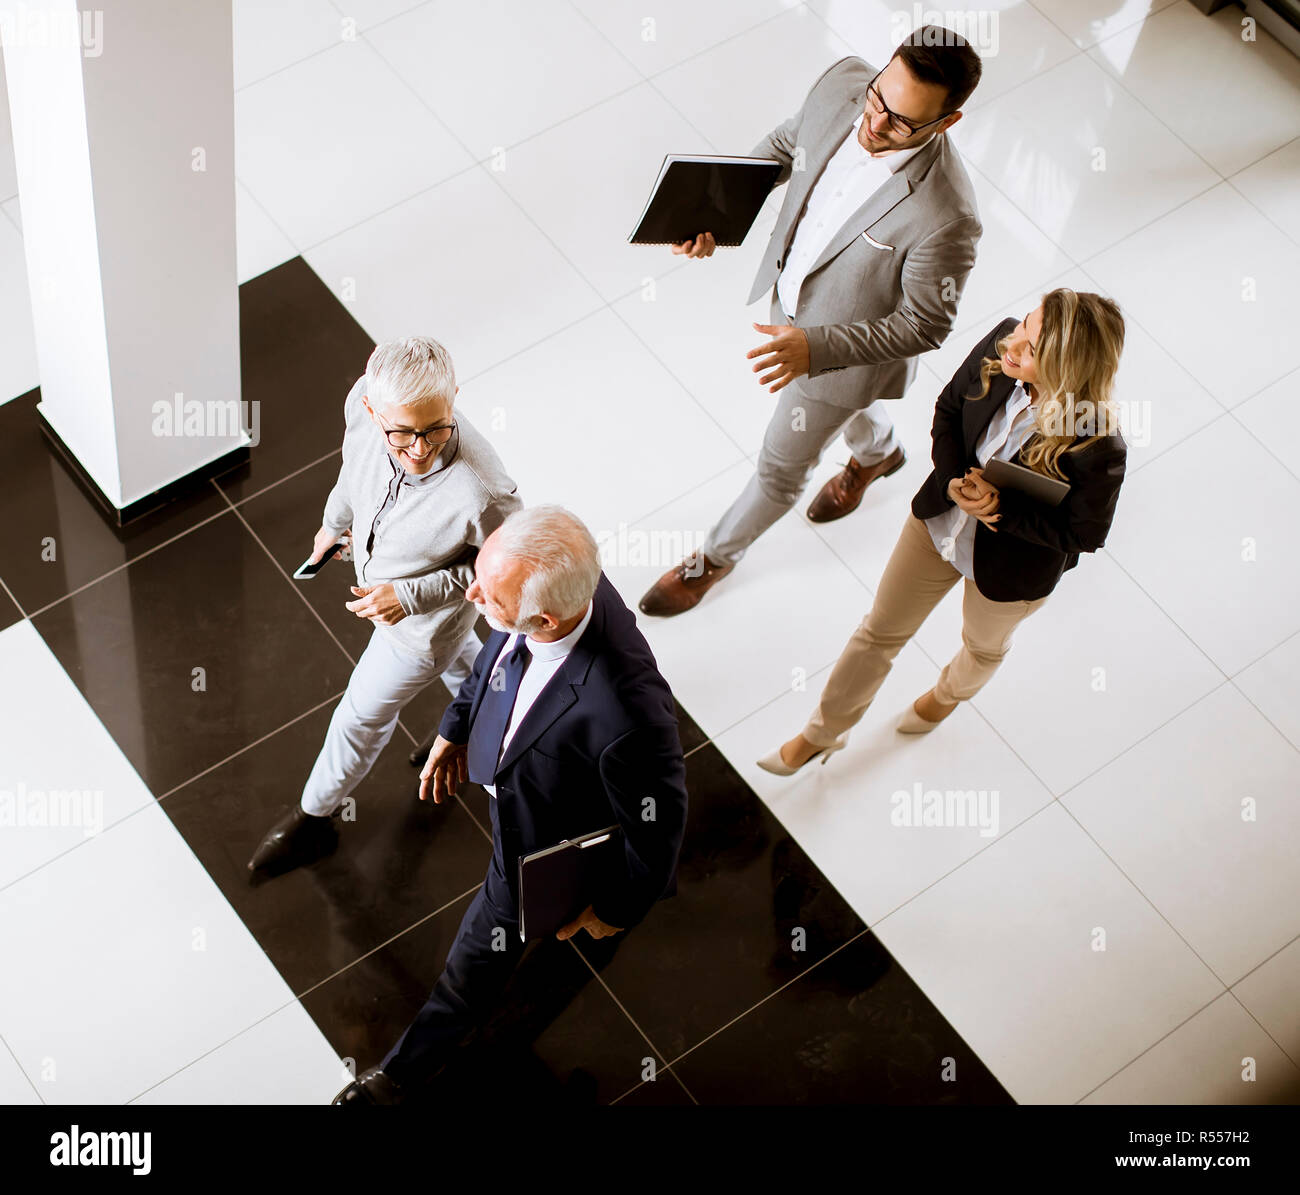
{"type": "MultiPolygon", "coordinates": [[[[863,111],[875,73],[862,59],[841,59],[812,85],[803,107],[751,151],[781,163],[774,186],[789,181],[748,300],[774,289],[772,322],[785,322],[775,285],[794,230],[863,111]],[[793,169],[797,147],[802,170],[793,169]]],[[[916,376],[916,355],[952,332],[982,231],[966,168],[940,133],[853,213],[803,280],[790,315],[809,338],[811,364],[800,378],[807,395],[854,410],[902,398],[916,376]]]]}

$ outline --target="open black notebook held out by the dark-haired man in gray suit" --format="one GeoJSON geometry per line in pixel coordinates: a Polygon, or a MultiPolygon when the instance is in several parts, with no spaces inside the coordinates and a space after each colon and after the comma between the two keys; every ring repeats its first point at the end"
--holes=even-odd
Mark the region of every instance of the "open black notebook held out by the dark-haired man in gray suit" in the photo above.
{"type": "Polygon", "coordinates": [[[670,153],[628,241],[676,244],[712,233],[719,244],[740,244],[780,173],[770,157],[670,153]]]}

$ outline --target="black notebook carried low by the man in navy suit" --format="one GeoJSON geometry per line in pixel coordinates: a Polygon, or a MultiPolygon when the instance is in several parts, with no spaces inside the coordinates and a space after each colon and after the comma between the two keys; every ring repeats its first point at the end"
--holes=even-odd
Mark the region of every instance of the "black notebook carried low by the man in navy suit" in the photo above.
{"type": "Polygon", "coordinates": [[[519,861],[519,936],[554,938],[593,904],[623,863],[623,830],[606,826],[519,861]]]}

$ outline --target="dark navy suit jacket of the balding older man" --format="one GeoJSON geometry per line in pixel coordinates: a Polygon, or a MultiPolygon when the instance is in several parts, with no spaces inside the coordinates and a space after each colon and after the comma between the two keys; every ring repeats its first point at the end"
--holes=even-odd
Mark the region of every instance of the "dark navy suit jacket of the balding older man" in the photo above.
{"type": "MultiPolygon", "coordinates": [[[[686,766],[672,690],[603,572],[593,603],[586,631],[524,715],[497,768],[494,866],[517,901],[521,854],[616,822],[625,867],[608,876],[593,912],[629,928],[677,891],[686,766]]],[[[502,631],[488,637],[442,715],[443,739],[469,741],[482,674],[508,638],[502,631]]]]}

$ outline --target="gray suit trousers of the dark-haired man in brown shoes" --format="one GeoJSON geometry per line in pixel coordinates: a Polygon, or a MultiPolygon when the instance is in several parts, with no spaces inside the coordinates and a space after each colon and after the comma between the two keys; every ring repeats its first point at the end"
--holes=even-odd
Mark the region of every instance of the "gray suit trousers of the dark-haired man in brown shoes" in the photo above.
{"type": "Polygon", "coordinates": [[[798,378],[777,390],[776,399],[754,476],[705,540],[705,555],[718,563],[734,564],[800,501],[827,445],[840,432],[858,464],[878,464],[900,446],[883,402],[861,411],[836,407],[809,398],[798,378]]]}

